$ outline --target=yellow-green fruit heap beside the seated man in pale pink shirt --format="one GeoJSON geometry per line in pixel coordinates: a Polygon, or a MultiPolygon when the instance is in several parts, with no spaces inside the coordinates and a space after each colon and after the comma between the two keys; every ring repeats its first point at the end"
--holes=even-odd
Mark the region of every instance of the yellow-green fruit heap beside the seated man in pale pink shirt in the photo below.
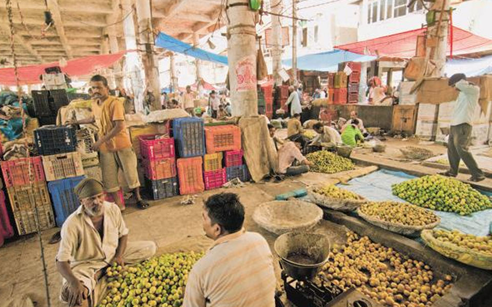
{"type": "Polygon", "coordinates": [[[313,163],[312,171],[333,174],[340,171],[354,169],[352,160],[338,156],[336,153],[319,150],[308,153],[306,158],[313,163]]]}

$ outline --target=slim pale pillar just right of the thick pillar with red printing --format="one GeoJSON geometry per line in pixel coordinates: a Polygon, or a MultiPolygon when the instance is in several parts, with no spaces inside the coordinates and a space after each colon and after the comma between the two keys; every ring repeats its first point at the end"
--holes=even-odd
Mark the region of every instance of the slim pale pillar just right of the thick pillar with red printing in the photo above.
{"type": "MultiPolygon", "coordinates": [[[[283,5],[282,0],[271,2],[272,13],[281,14],[283,5]]],[[[275,85],[282,85],[282,78],[278,72],[282,69],[282,25],[280,16],[272,16],[272,75],[275,85]]]]}

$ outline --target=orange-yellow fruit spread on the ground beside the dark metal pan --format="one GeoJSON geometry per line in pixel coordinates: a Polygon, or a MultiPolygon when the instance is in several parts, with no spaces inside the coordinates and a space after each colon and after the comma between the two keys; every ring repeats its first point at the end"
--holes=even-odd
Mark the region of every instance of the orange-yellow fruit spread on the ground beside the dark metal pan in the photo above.
{"type": "Polygon", "coordinates": [[[410,259],[364,236],[347,233],[347,244],[329,254],[314,282],[356,288],[386,307],[428,307],[452,287],[422,261],[410,259]]]}

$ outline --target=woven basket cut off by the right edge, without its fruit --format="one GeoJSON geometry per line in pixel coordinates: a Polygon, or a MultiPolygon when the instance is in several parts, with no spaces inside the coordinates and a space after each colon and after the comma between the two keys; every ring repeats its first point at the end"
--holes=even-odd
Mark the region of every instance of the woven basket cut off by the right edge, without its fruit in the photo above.
{"type": "Polygon", "coordinates": [[[422,230],[420,234],[425,244],[436,252],[461,263],[485,270],[492,270],[492,256],[473,251],[450,242],[442,242],[434,237],[432,230],[422,230]]]}

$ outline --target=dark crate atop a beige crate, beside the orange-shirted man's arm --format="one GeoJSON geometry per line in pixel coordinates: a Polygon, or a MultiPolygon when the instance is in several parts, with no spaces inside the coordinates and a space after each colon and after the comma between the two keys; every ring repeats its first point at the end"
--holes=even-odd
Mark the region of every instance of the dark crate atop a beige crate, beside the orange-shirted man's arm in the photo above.
{"type": "Polygon", "coordinates": [[[52,125],[37,128],[34,130],[34,143],[42,156],[75,151],[75,129],[71,126],[52,125]]]}

